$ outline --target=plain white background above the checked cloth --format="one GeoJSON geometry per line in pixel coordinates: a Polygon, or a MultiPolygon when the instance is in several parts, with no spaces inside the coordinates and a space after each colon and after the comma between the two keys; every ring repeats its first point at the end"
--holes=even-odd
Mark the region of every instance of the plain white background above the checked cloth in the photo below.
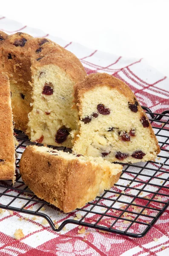
{"type": "Polygon", "coordinates": [[[6,0],[0,14],[169,76],[169,0],[6,0]]]}

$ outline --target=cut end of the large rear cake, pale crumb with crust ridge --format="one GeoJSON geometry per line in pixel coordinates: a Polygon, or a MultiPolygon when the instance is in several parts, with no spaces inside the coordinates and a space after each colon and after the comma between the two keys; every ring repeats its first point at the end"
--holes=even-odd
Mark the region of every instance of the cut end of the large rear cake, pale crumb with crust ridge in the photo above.
{"type": "Polygon", "coordinates": [[[32,141],[72,148],[70,131],[77,128],[73,86],[86,73],[63,54],[32,61],[32,111],[27,133],[32,141]]]}

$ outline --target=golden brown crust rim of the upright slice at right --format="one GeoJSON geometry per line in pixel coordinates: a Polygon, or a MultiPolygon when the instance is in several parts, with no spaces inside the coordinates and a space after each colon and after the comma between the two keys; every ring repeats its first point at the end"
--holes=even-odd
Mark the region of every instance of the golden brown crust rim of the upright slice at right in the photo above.
{"type": "MultiPolygon", "coordinates": [[[[111,89],[118,90],[119,93],[123,94],[127,98],[128,102],[130,102],[131,104],[135,104],[135,101],[137,100],[135,94],[132,92],[129,86],[125,84],[123,81],[121,81],[120,79],[117,79],[114,76],[111,76],[107,73],[91,74],[89,76],[86,76],[86,78],[83,81],[80,81],[79,83],[74,85],[74,103],[77,106],[79,113],[81,112],[83,94],[89,90],[92,90],[100,86],[108,86],[111,89]]],[[[145,116],[146,119],[149,121],[146,113],[143,111],[138,101],[137,103],[138,103],[138,112],[140,113],[140,119],[142,116],[145,116]]],[[[158,140],[155,137],[155,134],[150,122],[149,122],[149,130],[151,132],[152,140],[156,144],[156,153],[158,154],[160,152],[160,146],[158,145],[158,140]]],[[[77,137],[75,136],[74,142],[76,139],[77,137]]]]}

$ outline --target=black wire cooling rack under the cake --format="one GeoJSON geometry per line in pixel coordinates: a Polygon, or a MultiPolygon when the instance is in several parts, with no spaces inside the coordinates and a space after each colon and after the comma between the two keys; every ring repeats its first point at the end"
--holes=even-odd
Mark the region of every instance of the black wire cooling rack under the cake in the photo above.
{"type": "Polygon", "coordinates": [[[66,224],[77,224],[135,238],[146,235],[169,206],[169,111],[159,114],[143,109],[161,148],[156,161],[124,164],[120,180],[112,189],[69,214],[37,198],[23,183],[19,174],[20,157],[26,145],[35,143],[16,131],[19,141],[16,183],[12,186],[10,181],[0,182],[0,208],[43,217],[55,231],[66,224]]]}

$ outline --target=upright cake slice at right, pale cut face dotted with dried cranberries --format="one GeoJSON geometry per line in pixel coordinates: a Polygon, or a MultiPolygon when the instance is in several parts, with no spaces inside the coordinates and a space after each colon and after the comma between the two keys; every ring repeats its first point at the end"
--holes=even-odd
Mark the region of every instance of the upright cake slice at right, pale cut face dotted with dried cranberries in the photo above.
{"type": "Polygon", "coordinates": [[[155,160],[160,152],[148,117],[132,90],[106,73],[91,74],[74,87],[79,126],[73,151],[111,162],[155,160]]]}

